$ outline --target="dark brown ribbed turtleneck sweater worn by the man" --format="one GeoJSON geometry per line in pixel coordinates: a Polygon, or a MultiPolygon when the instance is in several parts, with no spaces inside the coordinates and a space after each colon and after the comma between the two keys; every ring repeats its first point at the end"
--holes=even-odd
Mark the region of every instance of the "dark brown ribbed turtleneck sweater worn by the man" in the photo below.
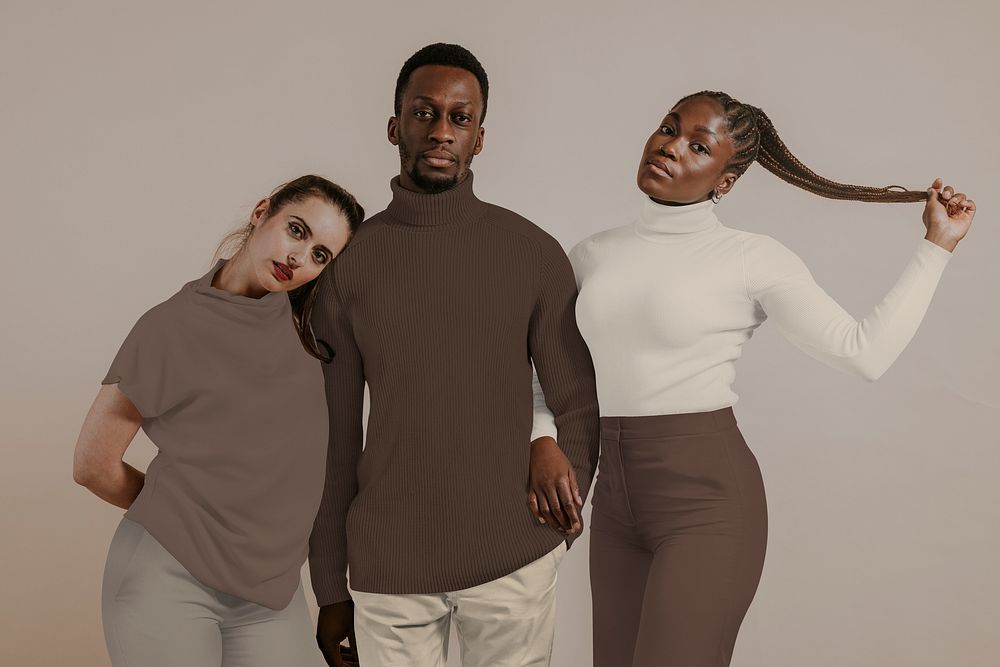
{"type": "Polygon", "coordinates": [[[565,539],[527,505],[532,360],[584,497],[597,463],[594,369],[559,243],[480,201],[471,173],[440,194],[390,185],[388,208],[320,278],[313,314],[336,352],[309,543],[320,605],[350,597],[348,564],[356,590],[455,591],[565,539]]]}

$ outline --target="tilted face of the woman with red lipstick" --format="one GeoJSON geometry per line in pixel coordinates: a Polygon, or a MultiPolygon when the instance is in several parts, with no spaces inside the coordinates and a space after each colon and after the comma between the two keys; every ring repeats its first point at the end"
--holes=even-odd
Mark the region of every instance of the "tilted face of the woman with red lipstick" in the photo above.
{"type": "Polygon", "coordinates": [[[288,292],[318,276],[351,236],[340,208],[320,197],[271,213],[264,199],[250,222],[254,231],[244,251],[257,283],[268,292],[288,292]]]}

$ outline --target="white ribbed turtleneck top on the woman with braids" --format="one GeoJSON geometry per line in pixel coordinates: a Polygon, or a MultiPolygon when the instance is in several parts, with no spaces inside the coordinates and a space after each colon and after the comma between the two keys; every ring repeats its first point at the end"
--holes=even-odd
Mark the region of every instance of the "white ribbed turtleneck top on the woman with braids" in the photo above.
{"type": "MultiPolygon", "coordinates": [[[[635,223],[570,251],[603,416],[733,405],[735,362],[764,320],[810,356],[875,380],[913,337],[951,258],[921,239],[895,286],[858,321],[795,253],[771,237],[725,227],[714,208],[643,197],[635,223]]],[[[532,437],[555,435],[548,392],[536,388],[535,395],[532,437]]]]}

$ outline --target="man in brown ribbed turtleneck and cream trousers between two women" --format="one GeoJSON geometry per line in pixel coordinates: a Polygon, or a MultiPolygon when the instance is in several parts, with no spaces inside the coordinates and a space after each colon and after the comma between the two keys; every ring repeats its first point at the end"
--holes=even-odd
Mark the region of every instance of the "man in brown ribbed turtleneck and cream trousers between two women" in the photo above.
{"type": "Polygon", "coordinates": [[[335,357],[309,564],[330,664],[353,625],[364,665],[443,665],[452,620],[467,666],[551,653],[556,568],[597,462],[597,395],[559,243],[473,193],[487,97],[460,46],[403,65],[392,201],[321,278],[312,323],[335,357]],[[559,445],[530,442],[532,362],[559,445]]]}

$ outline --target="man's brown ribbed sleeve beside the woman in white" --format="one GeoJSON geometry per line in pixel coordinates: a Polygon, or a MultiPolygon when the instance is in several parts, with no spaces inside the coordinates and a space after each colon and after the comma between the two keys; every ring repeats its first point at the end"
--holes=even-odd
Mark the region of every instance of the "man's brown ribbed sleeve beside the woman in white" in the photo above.
{"type": "MultiPolygon", "coordinates": [[[[586,498],[600,449],[593,361],[576,324],[577,287],[569,259],[551,238],[541,251],[529,351],[539,387],[544,390],[540,400],[551,409],[559,446],[576,470],[580,494],[586,498]]],[[[540,392],[535,396],[537,405],[540,392]]]]}

